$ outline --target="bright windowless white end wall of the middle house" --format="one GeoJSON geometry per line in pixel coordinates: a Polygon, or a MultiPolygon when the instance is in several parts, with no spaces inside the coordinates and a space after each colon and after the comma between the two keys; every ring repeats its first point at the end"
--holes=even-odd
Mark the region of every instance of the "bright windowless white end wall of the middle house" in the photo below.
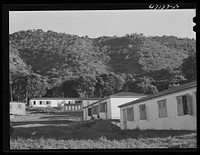
{"type": "Polygon", "coordinates": [[[111,118],[120,119],[120,109],[118,106],[137,99],[139,98],[111,98],[111,118]]]}

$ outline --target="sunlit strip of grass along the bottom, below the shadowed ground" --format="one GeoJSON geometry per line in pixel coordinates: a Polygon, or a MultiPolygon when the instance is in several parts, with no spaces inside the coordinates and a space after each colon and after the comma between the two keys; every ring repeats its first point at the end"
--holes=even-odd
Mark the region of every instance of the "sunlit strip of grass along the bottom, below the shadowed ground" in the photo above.
{"type": "Polygon", "coordinates": [[[55,139],[12,139],[11,149],[113,149],[113,148],[196,148],[196,134],[167,138],[139,138],[108,140],[55,140],[55,139]]]}

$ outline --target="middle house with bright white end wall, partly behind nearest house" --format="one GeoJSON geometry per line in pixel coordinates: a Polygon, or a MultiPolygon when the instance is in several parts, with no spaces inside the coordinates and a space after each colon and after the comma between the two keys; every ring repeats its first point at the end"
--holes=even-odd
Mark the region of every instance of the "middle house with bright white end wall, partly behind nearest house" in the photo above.
{"type": "Polygon", "coordinates": [[[120,119],[120,104],[137,100],[146,95],[121,92],[105,97],[97,102],[94,102],[86,107],[83,107],[83,119],[120,119]]]}

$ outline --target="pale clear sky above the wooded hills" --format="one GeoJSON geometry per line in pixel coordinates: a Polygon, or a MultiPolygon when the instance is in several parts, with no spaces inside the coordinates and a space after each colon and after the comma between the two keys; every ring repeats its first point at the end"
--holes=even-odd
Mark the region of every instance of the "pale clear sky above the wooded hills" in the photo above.
{"type": "Polygon", "coordinates": [[[195,9],[184,10],[83,10],[10,11],[9,34],[42,29],[78,36],[177,36],[194,38],[195,9]]]}

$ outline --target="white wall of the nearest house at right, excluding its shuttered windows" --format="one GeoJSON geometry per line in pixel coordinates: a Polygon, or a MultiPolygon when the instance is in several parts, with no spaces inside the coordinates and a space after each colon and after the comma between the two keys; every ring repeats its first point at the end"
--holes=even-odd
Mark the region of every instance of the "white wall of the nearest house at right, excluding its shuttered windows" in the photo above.
{"type": "Polygon", "coordinates": [[[196,88],[179,91],[158,98],[150,99],[133,105],[120,108],[121,129],[124,129],[122,110],[134,107],[134,121],[127,121],[127,129],[173,129],[173,130],[196,130],[196,88]],[[176,96],[189,93],[192,98],[193,115],[178,116],[176,96]],[[166,99],[167,117],[158,117],[157,101],[166,99]],[[147,120],[140,120],[139,105],[146,104],[147,120]]]}

